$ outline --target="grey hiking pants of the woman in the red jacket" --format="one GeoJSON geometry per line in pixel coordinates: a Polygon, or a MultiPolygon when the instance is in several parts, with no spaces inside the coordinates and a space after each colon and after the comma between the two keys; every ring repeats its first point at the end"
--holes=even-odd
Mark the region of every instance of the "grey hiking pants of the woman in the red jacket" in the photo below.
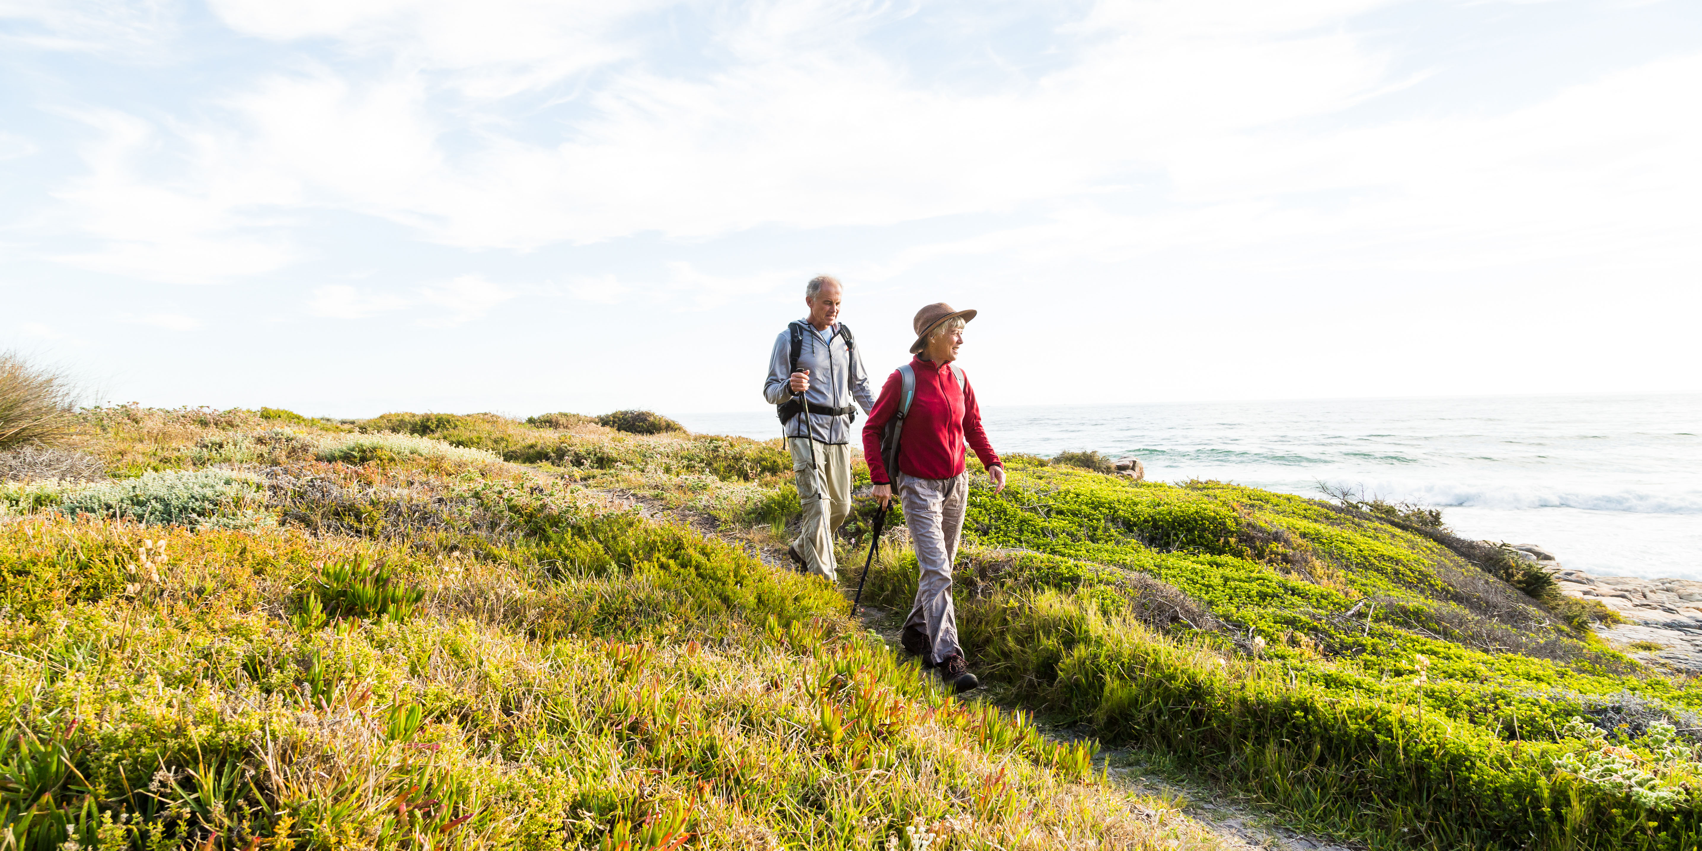
{"type": "Polygon", "coordinates": [[[916,563],[922,575],[916,582],[916,606],[904,620],[904,630],[928,635],[933,659],[957,654],[957,608],[951,604],[951,563],[963,531],[963,505],[968,502],[968,471],[953,478],[917,478],[897,475],[904,524],[911,528],[916,563]]]}

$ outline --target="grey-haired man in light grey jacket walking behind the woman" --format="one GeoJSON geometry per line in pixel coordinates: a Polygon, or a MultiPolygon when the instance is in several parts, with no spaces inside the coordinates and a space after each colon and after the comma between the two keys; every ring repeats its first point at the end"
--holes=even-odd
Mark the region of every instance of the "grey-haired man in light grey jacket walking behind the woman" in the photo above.
{"type": "Polygon", "coordinates": [[[839,322],[841,293],[839,281],[825,274],[805,284],[810,315],[774,337],[762,385],[762,398],[780,405],[803,502],[803,528],[788,555],[800,570],[831,580],[839,579],[834,529],[851,514],[851,402],[865,414],[875,407],[856,340],[839,322]]]}

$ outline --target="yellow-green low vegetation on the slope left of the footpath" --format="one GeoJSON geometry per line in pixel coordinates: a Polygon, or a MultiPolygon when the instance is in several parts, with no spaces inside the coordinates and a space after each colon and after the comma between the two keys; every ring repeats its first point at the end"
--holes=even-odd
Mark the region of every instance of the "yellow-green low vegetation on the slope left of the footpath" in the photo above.
{"type": "Polygon", "coordinates": [[[116,478],[0,490],[0,848],[1210,844],[752,557],[778,441],[397,419],[90,410],[116,478]]]}

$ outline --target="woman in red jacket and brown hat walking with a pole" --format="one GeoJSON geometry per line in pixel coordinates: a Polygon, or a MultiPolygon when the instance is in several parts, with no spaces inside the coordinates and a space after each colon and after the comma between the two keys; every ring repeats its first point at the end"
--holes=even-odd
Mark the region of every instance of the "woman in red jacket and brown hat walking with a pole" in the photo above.
{"type": "Polygon", "coordinates": [[[938,669],[940,679],[960,693],[980,686],[957,643],[957,609],[951,604],[951,563],[968,502],[965,443],[987,468],[994,492],[1004,490],[1004,465],[980,427],[975,390],[963,369],[951,366],[963,346],[963,325],[972,318],[974,310],[951,310],[943,301],[919,310],[916,342],[911,344],[916,359],[887,376],[863,426],[863,458],[875,482],[873,497],[885,507],[897,490],[921,567],[916,604],[904,621],[904,648],[922,657],[924,667],[938,669]],[[900,415],[905,371],[914,376],[914,395],[909,412],[900,415]],[[882,434],[894,417],[900,417],[902,431],[892,465],[895,470],[888,470],[882,458],[882,434]]]}

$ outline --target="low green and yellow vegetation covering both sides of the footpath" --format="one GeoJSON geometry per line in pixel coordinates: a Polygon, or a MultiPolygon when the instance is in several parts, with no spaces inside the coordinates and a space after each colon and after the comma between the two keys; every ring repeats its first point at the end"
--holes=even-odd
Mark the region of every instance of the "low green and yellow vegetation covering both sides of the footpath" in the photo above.
{"type": "MultiPolygon", "coordinates": [[[[0,848],[1210,841],[757,562],[780,441],[616,414],[85,412],[109,478],[0,483],[0,848]]],[[[972,488],[1001,701],[1374,848],[1702,842],[1702,684],[1610,613],[1433,512],[1089,466],[972,488]]],[[[865,599],[914,587],[888,533],[865,599]]]]}

